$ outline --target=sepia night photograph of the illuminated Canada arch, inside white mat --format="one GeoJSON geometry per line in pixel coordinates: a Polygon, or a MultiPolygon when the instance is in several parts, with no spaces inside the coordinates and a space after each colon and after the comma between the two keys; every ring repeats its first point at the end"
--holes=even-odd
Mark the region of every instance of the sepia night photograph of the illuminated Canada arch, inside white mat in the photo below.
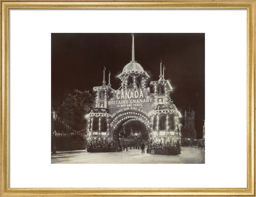
{"type": "Polygon", "coordinates": [[[51,163],[205,163],[204,121],[204,33],[51,34],[51,163]]]}

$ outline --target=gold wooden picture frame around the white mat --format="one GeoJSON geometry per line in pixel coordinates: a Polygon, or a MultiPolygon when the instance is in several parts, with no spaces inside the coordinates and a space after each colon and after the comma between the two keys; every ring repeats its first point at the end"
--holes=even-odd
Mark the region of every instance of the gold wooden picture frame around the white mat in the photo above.
{"type": "Polygon", "coordinates": [[[255,196],[255,1],[2,1],[1,2],[1,196],[255,196]],[[10,188],[9,10],[10,9],[246,9],[247,187],[246,188],[10,188]]]}

